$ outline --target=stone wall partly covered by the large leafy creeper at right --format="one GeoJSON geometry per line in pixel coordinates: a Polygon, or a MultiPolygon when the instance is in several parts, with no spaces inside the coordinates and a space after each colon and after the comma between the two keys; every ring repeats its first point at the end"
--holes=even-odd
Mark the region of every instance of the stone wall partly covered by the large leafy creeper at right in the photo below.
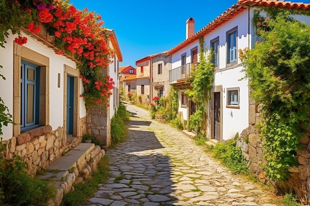
{"type": "MultiPolygon", "coordinates": [[[[249,170],[258,177],[260,182],[271,182],[263,171],[265,161],[263,159],[263,148],[259,137],[259,128],[256,127],[261,121],[260,112],[262,105],[256,105],[253,100],[249,102],[249,127],[242,131],[236,141],[236,146],[242,148],[242,154],[248,162],[249,170]]],[[[292,167],[291,178],[286,182],[271,182],[282,192],[294,191],[299,201],[310,204],[310,127],[307,134],[301,137],[302,149],[297,151],[299,165],[292,167]]]]}

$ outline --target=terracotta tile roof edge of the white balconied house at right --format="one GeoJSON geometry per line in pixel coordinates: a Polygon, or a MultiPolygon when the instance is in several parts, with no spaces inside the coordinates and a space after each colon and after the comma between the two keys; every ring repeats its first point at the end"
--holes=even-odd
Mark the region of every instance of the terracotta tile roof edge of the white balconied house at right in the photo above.
{"type": "Polygon", "coordinates": [[[280,0],[238,0],[236,4],[233,4],[231,8],[228,8],[227,11],[224,11],[218,17],[216,17],[213,21],[207,24],[204,28],[199,30],[192,37],[187,40],[181,42],[177,46],[173,47],[167,54],[174,54],[175,52],[181,50],[182,48],[188,46],[194,41],[199,40],[199,38],[207,35],[212,32],[225,22],[237,16],[239,13],[243,12],[249,6],[266,6],[266,7],[278,7],[278,8],[287,8],[287,9],[301,9],[301,10],[309,10],[309,3],[294,3],[292,1],[280,1],[280,0]]]}

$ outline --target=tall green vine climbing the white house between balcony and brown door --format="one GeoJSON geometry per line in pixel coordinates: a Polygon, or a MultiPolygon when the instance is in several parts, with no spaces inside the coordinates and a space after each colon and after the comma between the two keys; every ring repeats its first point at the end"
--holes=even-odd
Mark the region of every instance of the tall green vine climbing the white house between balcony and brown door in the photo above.
{"type": "Polygon", "coordinates": [[[190,116],[190,127],[197,127],[199,130],[204,128],[204,120],[206,118],[205,100],[209,98],[209,92],[212,88],[214,80],[214,64],[211,63],[211,56],[208,56],[208,61],[204,54],[204,38],[200,38],[200,62],[197,69],[192,70],[192,89],[187,89],[186,93],[189,98],[197,105],[197,111],[190,116]]]}

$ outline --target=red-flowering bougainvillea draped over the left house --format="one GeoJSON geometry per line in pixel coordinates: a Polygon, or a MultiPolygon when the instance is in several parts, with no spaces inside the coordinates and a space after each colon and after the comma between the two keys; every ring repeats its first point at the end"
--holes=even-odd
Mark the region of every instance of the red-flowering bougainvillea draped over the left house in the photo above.
{"type": "Polygon", "coordinates": [[[55,54],[68,54],[77,60],[81,72],[86,106],[103,103],[107,105],[113,88],[113,80],[105,77],[102,70],[108,67],[113,52],[102,27],[100,15],[78,10],[67,0],[4,0],[5,9],[0,12],[0,46],[4,46],[8,31],[17,33],[14,42],[27,43],[20,30],[25,28],[40,35],[45,27],[55,37],[55,54]],[[18,16],[19,18],[16,18],[18,16]]]}

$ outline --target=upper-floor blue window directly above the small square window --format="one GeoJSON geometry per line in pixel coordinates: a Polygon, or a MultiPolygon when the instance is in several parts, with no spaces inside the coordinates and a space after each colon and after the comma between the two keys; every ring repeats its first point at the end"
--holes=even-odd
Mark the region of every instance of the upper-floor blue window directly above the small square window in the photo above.
{"type": "Polygon", "coordinates": [[[226,33],[227,36],[227,63],[237,61],[237,27],[226,33]]]}

